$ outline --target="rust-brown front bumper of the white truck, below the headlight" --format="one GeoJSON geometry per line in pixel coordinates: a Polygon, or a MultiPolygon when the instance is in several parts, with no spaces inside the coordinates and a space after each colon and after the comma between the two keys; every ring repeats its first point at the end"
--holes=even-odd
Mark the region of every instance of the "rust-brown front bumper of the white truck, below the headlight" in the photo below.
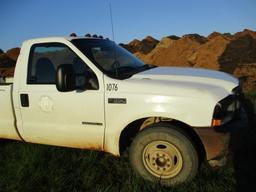
{"type": "Polygon", "coordinates": [[[211,166],[222,166],[229,151],[230,134],[248,126],[248,118],[243,109],[228,123],[216,127],[194,128],[200,137],[211,166]]]}

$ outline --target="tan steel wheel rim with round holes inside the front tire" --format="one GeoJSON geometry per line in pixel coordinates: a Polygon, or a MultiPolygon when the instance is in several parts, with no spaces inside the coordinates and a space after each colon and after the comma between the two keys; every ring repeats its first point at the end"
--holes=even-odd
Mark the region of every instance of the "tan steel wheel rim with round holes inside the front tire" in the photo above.
{"type": "Polygon", "coordinates": [[[154,176],[175,177],[182,169],[183,160],[178,148],[166,141],[153,141],[143,151],[145,168],[154,176]]]}

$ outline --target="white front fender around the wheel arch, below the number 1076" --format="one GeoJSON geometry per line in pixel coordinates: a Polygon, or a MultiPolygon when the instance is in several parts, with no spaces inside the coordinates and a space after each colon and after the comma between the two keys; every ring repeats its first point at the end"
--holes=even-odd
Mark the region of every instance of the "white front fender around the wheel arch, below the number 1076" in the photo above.
{"type": "Polygon", "coordinates": [[[211,126],[215,101],[200,101],[191,97],[170,97],[149,94],[118,94],[125,98],[126,103],[108,103],[109,98],[116,95],[106,95],[106,131],[104,149],[114,155],[119,155],[119,138],[122,130],[135,120],[148,117],[171,118],[191,127],[211,126]]]}

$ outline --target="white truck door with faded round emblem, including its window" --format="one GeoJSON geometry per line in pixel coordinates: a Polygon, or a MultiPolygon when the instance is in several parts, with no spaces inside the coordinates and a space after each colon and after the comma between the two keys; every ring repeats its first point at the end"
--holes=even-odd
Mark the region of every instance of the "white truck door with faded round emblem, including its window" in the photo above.
{"type": "MultiPolygon", "coordinates": [[[[55,73],[72,64],[76,73],[97,75],[62,43],[34,44],[21,98],[22,136],[28,142],[102,150],[105,129],[104,89],[59,92],[55,73]],[[22,103],[22,100],[27,103],[22,103]]],[[[77,86],[83,82],[76,80],[77,86]]]]}

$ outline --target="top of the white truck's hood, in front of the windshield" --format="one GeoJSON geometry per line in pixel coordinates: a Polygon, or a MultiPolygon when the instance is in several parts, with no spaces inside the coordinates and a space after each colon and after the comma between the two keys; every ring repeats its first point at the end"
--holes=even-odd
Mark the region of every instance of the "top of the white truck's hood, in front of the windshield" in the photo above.
{"type": "Polygon", "coordinates": [[[239,81],[232,75],[224,72],[181,67],[156,67],[138,74],[132,79],[164,80],[171,82],[196,83],[214,86],[231,92],[238,86],[239,81]]]}

